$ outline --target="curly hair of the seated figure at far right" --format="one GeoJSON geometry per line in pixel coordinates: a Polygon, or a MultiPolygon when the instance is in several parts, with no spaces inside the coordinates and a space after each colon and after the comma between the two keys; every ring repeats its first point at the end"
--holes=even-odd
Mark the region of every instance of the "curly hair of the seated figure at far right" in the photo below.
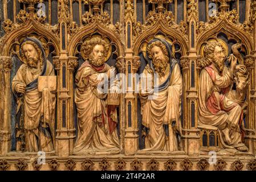
{"type": "Polygon", "coordinates": [[[210,64],[214,61],[214,49],[216,46],[219,46],[222,48],[223,51],[225,51],[224,47],[221,45],[221,43],[214,41],[214,42],[208,42],[204,48],[204,58],[201,61],[201,67],[208,67],[210,64]]]}

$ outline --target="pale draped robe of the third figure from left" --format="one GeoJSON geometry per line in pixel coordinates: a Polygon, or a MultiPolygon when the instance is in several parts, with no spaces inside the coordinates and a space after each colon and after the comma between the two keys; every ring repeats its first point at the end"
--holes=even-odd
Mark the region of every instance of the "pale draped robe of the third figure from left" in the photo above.
{"type": "MultiPolygon", "coordinates": [[[[144,69],[143,73],[147,76],[151,71],[144,69]]],[[[144,150],[181,150],[177,139],[177,132],[181,134],[181,94],[182,76],[178,64],[174,66],[169,86],[159,91],[155,99],[148,99],[147,92],[140,93],[142,124],[149,128],[149,133],[145,137],[144,150]],[[176,123],[173,128],[174,121],[176,123]],[[164,125],[169,125],[169,137],[166,136],[164,125]]]]}

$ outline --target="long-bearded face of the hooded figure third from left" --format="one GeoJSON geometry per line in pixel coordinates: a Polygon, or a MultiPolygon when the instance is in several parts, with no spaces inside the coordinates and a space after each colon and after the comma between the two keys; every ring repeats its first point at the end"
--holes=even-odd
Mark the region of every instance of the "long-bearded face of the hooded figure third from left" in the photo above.
{"type": "Polygon", "coordinates": [[[160,47],[153,47],[151,49],[152,63],[156,73],[164,76],[165,69],[168,67],[168,56],[166,56],[160,47]]]}

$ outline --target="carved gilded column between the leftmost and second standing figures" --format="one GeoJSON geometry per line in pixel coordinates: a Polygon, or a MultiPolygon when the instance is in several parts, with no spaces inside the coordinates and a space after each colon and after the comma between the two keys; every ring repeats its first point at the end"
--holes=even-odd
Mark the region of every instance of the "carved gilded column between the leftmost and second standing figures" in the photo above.
{"type": "Polygon", "coordinates": [[[78,65],[77,59],[78,57],[64,55],[54,57],[55,69],[58,72],[56,154],[59,156],[71,155],[74,147],[73,72],[78,65]]]}

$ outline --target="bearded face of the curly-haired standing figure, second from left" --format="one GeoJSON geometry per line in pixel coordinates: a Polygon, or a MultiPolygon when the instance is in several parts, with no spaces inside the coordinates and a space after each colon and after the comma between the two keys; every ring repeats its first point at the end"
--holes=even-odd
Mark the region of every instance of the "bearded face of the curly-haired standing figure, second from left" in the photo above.
{"type": "Polygon", "coordinates": [[[96,45],[92,49],[92,53],[89,57],[89,61],[91,64],[100,66],[104,64],[104,46],[96,45]]]}

